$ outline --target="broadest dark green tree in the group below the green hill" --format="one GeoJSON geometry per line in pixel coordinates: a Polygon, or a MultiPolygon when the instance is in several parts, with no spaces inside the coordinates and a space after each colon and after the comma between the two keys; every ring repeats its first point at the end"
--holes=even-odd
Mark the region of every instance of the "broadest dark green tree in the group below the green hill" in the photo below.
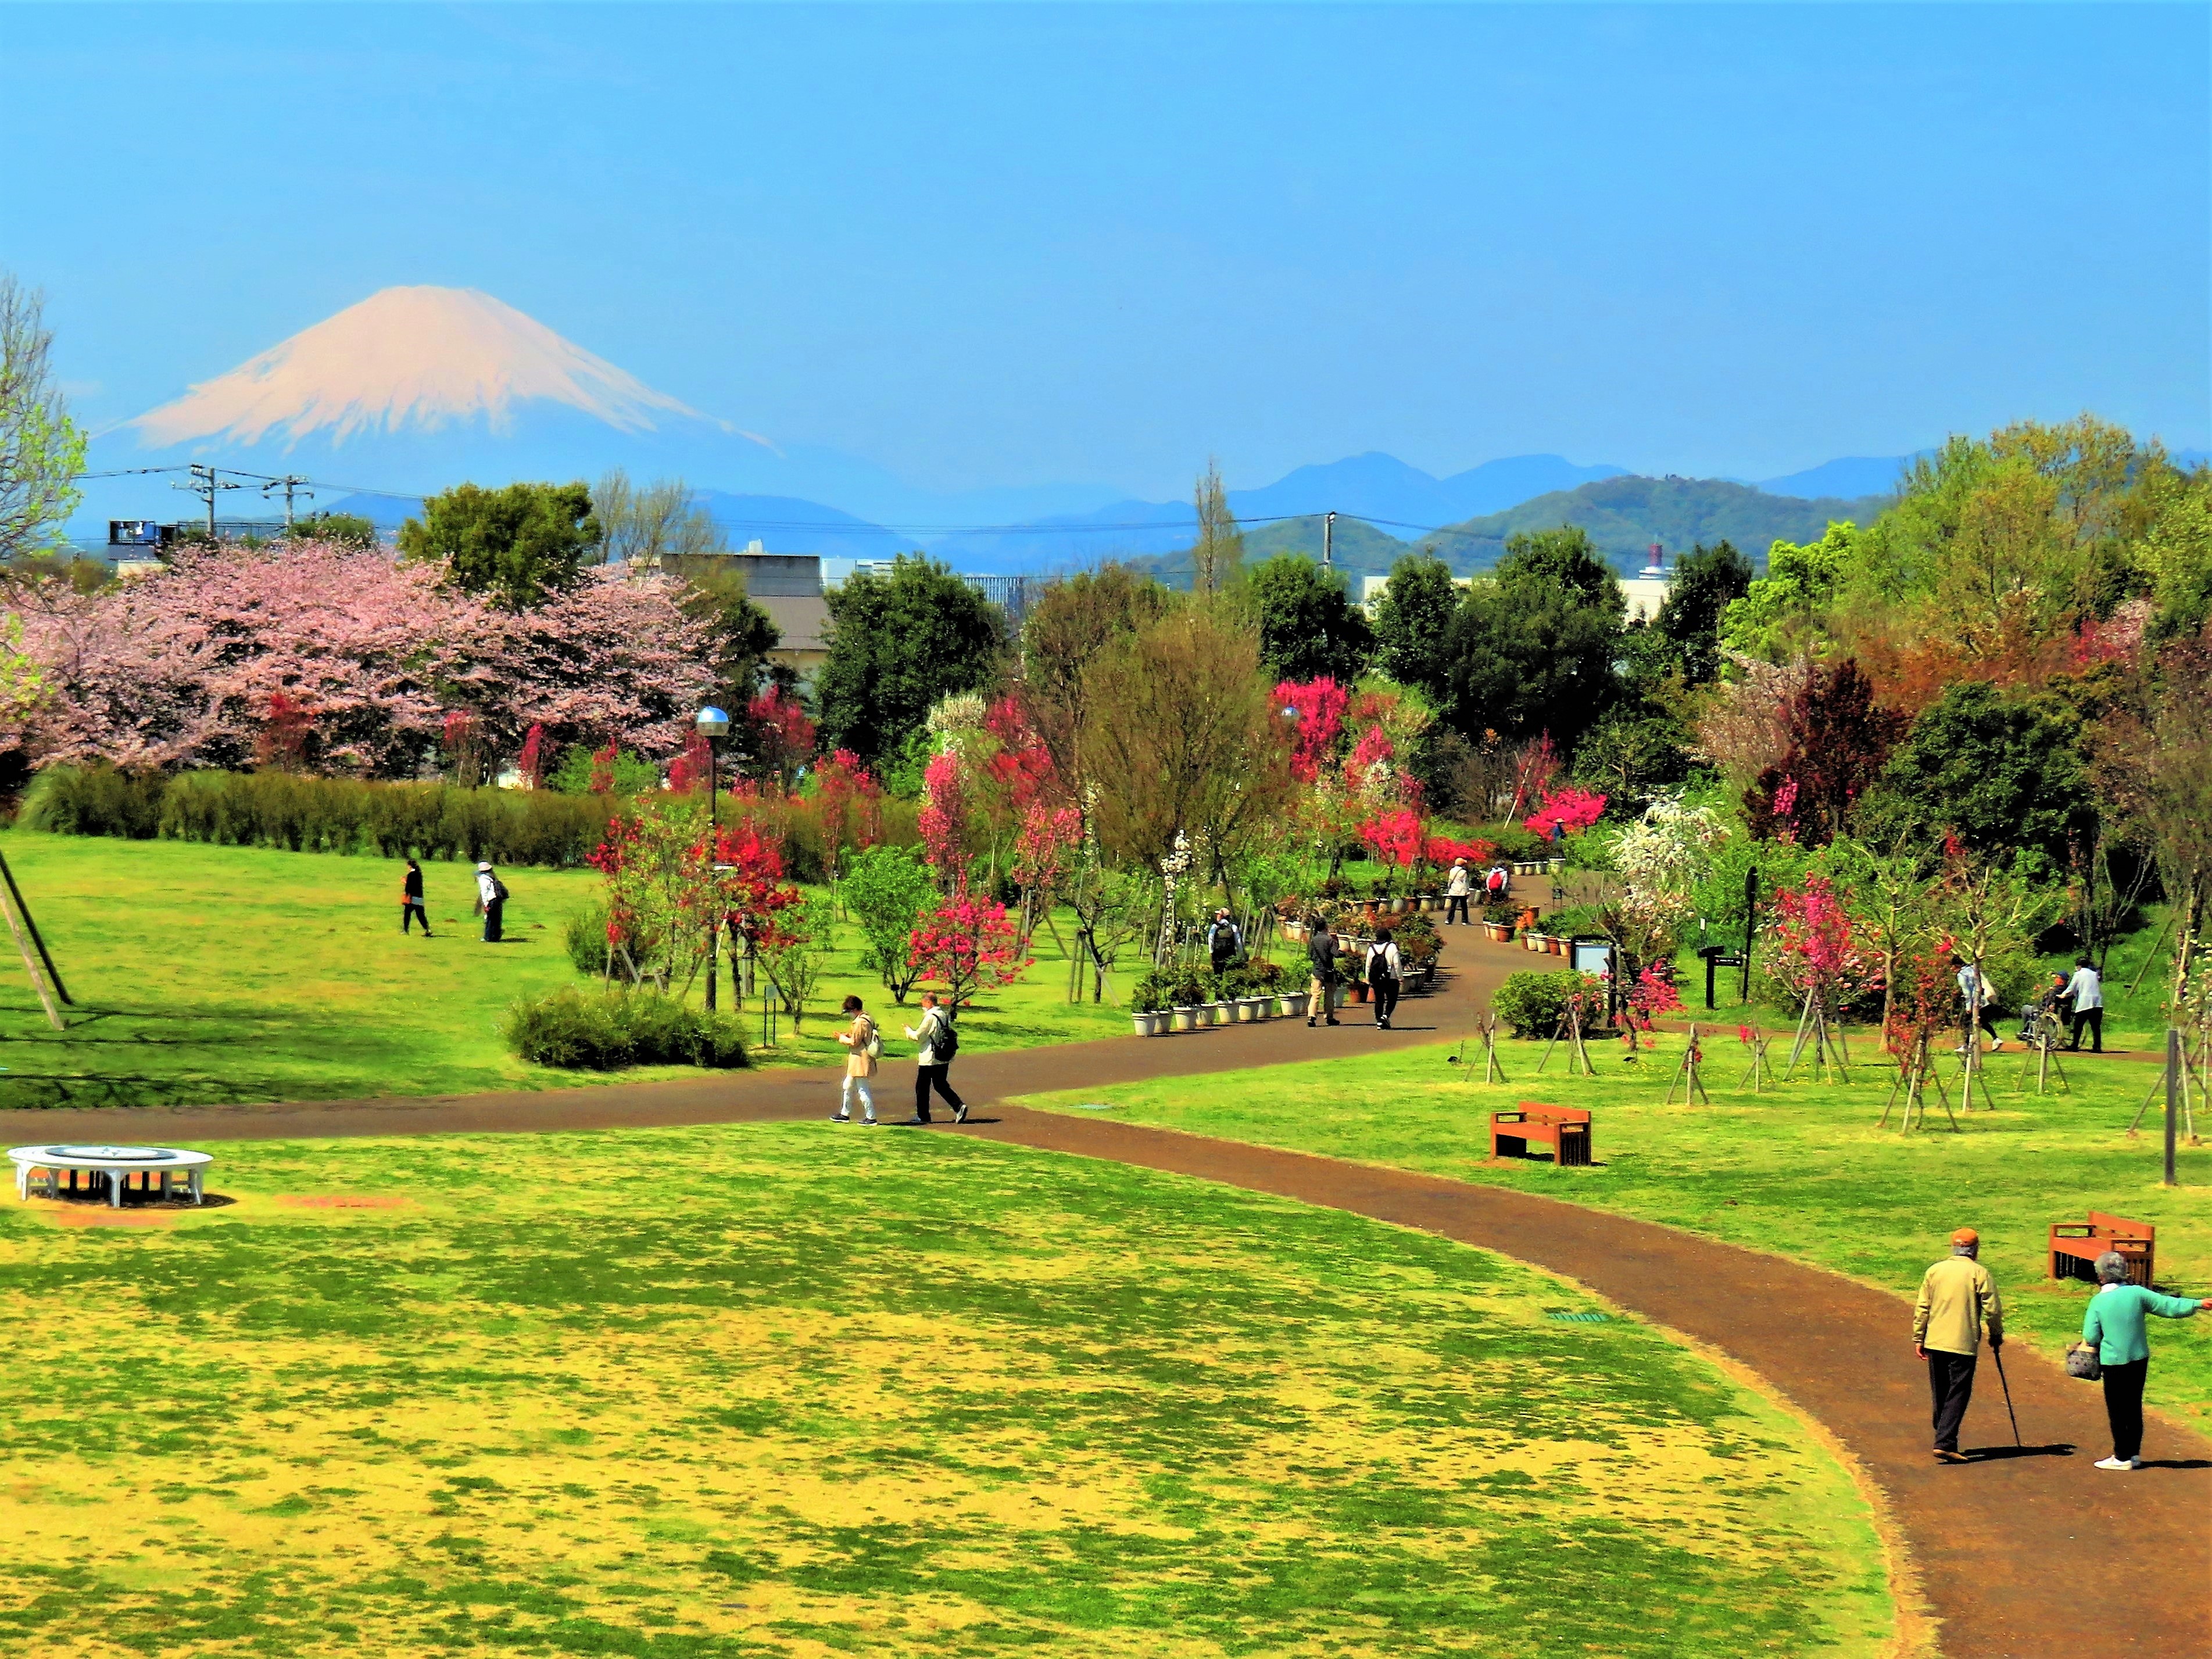
{"type": "Polygon", "coordinates": [[[1451,617],[1451,723],[1506,739],[1551,732],[1573,748],[1619,701],[1615,668],[1628,602],[1586,531],[1515,535],[1491,582],[1451,617]]]}

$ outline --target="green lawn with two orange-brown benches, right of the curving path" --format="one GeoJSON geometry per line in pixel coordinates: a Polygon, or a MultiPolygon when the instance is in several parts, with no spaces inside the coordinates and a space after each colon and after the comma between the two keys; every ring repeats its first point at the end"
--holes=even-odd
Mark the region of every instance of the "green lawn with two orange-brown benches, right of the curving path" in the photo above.
{"type": "MultiPolygon", "coordinates": [[[[1958,1225],[1982,1232],[2008,1325],[2057,1354],[2081,1327],[2088,1287],[2044,1276],[2051,1221],[2086,1210],[2159,1228],[2159,1281],[2212,1296],[2212,1148],[2181,1152],[2181,1186],[2163,1188],[2157,1108],[2139,1139],[2128,1119],[2157,1071],[2077,1057],[2070,1095],[2020,1093],[2017,1057],[1986,1073],[1995,1110],[1960,1117],[1951,1133],[1880,1130],[1893,1073],[1863,1068],[1851,1084],[1794,1082],[1765,1095],[1739,1091],[1745,1062],[1730,1031],[1708,1040],[1710,1106],[1663,1106],[1681,1037],[1663,1037],[1635,1068],[1617,1046],[1593,1044],[1597,1077],[1566,1077],[1559,1055],[1535,1075],[1540,1044],[1502,1046],[1511,1082],[1482,1084],[1449,1048],[1327,1064],[1272,1066],[1190,1079],[1033,1097],[1031,1106],[1108,1104],[1146,1124],[1310,1152],[1491,1181],[1619,1210],[1772,1250],[1911,1296],[1920,1272],[1958,1225]],[[1597,1168],[1491,1164],[1489,1113],[1522,1099],[1597,1113],[1597,1168]]],[[[2201,1124],[2212,1133],[2212,1121],[2201,1124]]],[[[1905,1310],[1898,1340],[1909,1338],[1905,1310]]],[[[2212,1316],[2157,1321],[2150,1398],[2212,1433],[2212,1316]]]]}

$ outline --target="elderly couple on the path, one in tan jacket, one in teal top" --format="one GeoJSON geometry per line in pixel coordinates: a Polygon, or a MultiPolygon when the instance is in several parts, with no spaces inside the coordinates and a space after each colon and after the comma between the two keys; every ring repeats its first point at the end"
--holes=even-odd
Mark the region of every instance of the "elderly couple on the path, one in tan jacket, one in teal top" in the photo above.
{"type": "MultiPolygon", "coordinates": [[[[1982,1265],[1982,1237],[1973,1228],[1951,1234],[1951,1254],[1920,1276],[1920,1301],[1913,1305],[1913,1354],[1929,1367],[1929,1396],[1936,1405],[1936,1462],[1973,1462],[1958,1449],[1958,1431],[1973,1398],[1973,1363],[1989,1334],[1989,1352],[2004,1371],[2004,1301],[1997,1281],[1982,1265]]],[[[2097,1256],[2097,1294],[2081,1316],[2081,1347],[2095,1349],[2093,1360],[2075,1371],[2104,1380],[2104,1413],[2112,1429],[2112,1455],[2099,1458],[2099,1469],[2141,1469],[2143,1451],[2143,1383],[2150,1376],[2150,1338],[2143,1321],[2194,1318],[2212,1301],[2161,1296],[2146,1285],[2128,1283],[2128,1261],[2117,1252],[2097,1256]]]]}

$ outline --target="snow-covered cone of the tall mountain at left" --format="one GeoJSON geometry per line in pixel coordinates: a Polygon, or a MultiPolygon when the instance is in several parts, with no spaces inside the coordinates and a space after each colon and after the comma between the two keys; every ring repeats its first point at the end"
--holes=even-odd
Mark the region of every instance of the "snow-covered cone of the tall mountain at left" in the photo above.
{"type": "Polygon", "coordinates": [[[124,429],[148,449],[210,440],[290,449],[303,438],[336,447],[478,425],[507,436],[515,407],[531,403],[628,434],[708,420],[491,294],[420,285],[369,294],[124,429]]]}

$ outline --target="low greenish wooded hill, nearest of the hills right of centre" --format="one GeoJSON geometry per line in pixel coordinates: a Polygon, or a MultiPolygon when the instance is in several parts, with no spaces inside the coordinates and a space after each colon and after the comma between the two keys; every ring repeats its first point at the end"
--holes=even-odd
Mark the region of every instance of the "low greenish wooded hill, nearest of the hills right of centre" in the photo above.
{"type": "Polygon", "coordinates": [[[1652,542],[1681,553],[1697,542],[1734,542],[1752,560],[1763,560],[1776,538],[1809,542],[1829,520],[1860,524],[1880,513],[1885,495],[1858,500],[1767,495],[1750,484],[1719,478],[1606,478],[1579,489],[1537,495],[1504,513],[1471,518],[1420,546],[1449,560],[1455,571],[1489,568],[1504,553],[1509,535],[1579,524],[1615,566],[1639,568],[1652,542]]]}

